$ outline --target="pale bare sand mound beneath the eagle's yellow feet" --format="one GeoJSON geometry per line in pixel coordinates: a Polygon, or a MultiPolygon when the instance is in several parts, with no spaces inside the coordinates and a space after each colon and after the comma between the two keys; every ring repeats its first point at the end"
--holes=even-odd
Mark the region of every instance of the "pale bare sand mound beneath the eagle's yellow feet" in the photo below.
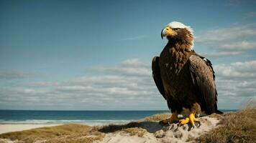
{"type": "Polygon", "coordinates": [[[142,129],[145,129],[146,133],[143,137],[136,135],[130,136],[123,132],[114,132],[106,134],[103,141],[99,143],[168,143],[168,142],[190,142],[193,138],[199,137],[201,134],[208,132],[215,127],[219,127],[219,120],[211,117],[201,117],[201,126],[192,128],[191,124],[186,124],[181,127],[178,124],[170,124],[163,126],[158,122],[145,122],[142,123],[142,129]]]}

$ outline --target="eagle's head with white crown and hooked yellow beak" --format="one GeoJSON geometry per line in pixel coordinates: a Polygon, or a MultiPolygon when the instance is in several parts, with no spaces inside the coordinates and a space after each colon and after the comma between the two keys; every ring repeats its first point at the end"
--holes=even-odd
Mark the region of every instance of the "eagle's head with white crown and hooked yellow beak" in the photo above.
{"type": "Polygon", "coordinates": [[[193,49],[193,29],[178,21],[170,22],[161,31],[161,38],[166,37],[168,41],[178,42],[179,44],[188,44],[193,49]]]}

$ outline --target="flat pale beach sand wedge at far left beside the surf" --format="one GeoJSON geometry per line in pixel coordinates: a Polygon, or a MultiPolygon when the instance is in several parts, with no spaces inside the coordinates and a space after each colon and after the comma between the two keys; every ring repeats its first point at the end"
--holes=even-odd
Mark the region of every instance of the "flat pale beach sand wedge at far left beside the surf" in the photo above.
{"type": "Polygon", "coordinates": [[[52,127],[61,124],[0,124],[0,134],[6,132],[17,132],[38,127],[52,127]]]}

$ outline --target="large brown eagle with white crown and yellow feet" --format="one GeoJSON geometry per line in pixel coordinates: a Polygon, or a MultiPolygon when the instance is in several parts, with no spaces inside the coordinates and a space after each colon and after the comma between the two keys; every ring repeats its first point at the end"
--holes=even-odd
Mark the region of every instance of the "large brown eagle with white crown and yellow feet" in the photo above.
{"type": "MultiPolygon", "coordinates": [[[[217,90],[211,61],[193,50],[193,29],[178,21],[170,22],[161,31],[166,44],[160,56],[152,59],[152,77],[172,112],[163,123],[178,121],[178,114],[189,109],[180,124],[199,122],[195,115],[221,114],[217,109],[217,90]]],[[[199,115],[198,115],[199,116],[199,115]]],[[[200,123],[200,122],[199,122],[200,123]]]]}

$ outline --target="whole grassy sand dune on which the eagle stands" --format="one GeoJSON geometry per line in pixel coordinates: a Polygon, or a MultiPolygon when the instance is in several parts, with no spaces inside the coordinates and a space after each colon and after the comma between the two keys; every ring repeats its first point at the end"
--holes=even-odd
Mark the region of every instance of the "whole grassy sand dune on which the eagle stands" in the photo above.
{"type": "Polygon", "coordinates": [[[85,142],[85,143],[167,143],[167,142],[255,142],[256,109],[200,117],[201,126],[159,124],[170,114],[156,114],[128,124],[89,127],[64,124],[22,132],[0,134],[0,142],[85,142]]]}

